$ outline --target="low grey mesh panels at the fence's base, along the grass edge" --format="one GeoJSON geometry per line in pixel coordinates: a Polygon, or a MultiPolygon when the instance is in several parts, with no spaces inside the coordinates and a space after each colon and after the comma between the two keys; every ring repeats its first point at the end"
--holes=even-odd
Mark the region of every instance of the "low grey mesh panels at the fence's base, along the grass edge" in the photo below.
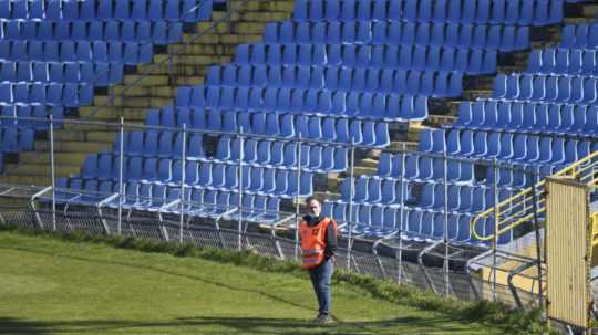
{"type": "MultiPolygon", "coordinates": [[[[37,210],[27,208],[3,209],[0,212],[0,224],[14,227],[22,230],[48,230],[54,231],[52,224],[56,222],[55,231],[61,232],[104,232],[104,223],[116,227],[118,219],[116,212],[105,213],[100,217],[95,211],[58,211],[37,210]],[[55,216],[54,216],[55,214],[55,216]],[[42,227],[39,222],[42,222],[42,227]]],[[[157,221],[155,217],[146,213],[123,218],[121,235],[153,241],[169,241],[168,234],[178,234],[179,226],[176,220],[157,221]]],[[[177,239],[175,239],[178,242],[177,239]]],[[[202,248],[212,249],[240,249],[249,250],[259,255],[274,257],[282,260],[295,259],[295,241],[289,237],[277,235],[271,231],[260,229],[251,230],[238,234],[234,229],[217,228],[206,222],[189,222],[183,229],[183,243],[189,243],[202,248]]],[[[365,251],[352,250],[349,253],[347,248],[339,248],[337,265],[341,269],[350,270],[361,274],[370,274],[380,279],[394,280],[398,283],[411,284],[424,290],[442,287],[445,283],[445,273],[442,268],[426,266],[410,261],[399,262],[395,257],[374,254],[365,251]],[[399,268],[400,266],[400,268],[399,268]],[[429,276],[431,282],[422,281],[423,276],[429,276]]],[[[492,296],[480,295],[482,287],[487,283],[476,280],[462,271],[450,272],[448,295],[460,300],[480,300],[492,296]]],[[[506,286],[498,287],[499,300],[512,301],[511,291],[506,286]]],[[[534,296],[526,296],[530,304],[536,303],[534,296]]]]}

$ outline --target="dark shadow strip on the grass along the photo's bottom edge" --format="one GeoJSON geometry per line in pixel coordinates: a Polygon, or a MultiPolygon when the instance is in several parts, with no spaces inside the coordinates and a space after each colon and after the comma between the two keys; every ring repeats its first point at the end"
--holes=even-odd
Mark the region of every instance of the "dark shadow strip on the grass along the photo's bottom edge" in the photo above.
{"type": "Polygon", "coordinates": [[[399,317],[378,322],[337,322],[318,326],[297,318],[260,317],[192,317],[173,321],[144,322],[125,320],[80,320],[35,322],[0,318],[0,334],[450,334],[466,332],[467,327],[443,327],[445,318],[399,317]],[[398,326],[402,326],[398,329],[398,326]]]}

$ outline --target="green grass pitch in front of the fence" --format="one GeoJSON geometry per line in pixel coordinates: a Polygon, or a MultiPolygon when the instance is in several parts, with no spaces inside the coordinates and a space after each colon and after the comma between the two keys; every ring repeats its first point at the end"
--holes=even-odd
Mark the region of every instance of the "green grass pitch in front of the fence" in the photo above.
{"type": "Polygon", "coordinates": [[[0,232],[0,334],[498,334],[333,290],[337,323],[316,327],[295,275],[0,232]]]}

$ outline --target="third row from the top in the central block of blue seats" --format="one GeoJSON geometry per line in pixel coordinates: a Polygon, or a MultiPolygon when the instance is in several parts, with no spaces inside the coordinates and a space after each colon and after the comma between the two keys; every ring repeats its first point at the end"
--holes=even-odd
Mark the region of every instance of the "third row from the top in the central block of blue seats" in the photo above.
{"type": "Polygon", "coordinates": [[[329,65],[347,67],[457,71],[467,74],[496,72],[496,51],[430,45],[368,44],[240,44],[235,63],[241,65],[329,65]]]}

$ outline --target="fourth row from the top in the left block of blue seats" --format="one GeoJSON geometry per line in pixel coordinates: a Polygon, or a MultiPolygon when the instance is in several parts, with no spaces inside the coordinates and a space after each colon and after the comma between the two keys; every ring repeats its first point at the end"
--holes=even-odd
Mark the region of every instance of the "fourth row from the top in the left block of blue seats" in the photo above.
{"type": "Polygon", "coordinates": [[[11,62],[0,63],[2,82],[93,83],[107,86],[124,78],[122,63],[11,62]]]}

